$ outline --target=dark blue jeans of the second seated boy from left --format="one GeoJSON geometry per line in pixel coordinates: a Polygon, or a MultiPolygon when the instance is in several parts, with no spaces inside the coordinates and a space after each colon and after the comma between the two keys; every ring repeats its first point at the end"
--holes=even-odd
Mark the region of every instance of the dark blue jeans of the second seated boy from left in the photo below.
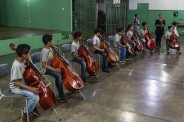
{"type": "Polygon", "coordinates": [[[63,81],[62,76],[58,72],[54,72],[51,70],[46,70],[45,75],[50,75],[55,78],[56,87],[58,90],[59,98],[64,99],[64,93],[63,93],[63,81]]]}

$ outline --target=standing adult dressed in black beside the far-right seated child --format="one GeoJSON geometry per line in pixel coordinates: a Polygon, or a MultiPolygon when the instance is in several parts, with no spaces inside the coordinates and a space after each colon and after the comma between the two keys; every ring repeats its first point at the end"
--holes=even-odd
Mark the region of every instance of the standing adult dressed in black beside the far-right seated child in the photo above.
{"type": "Polygon", "coordinates": [[[161,47],[161,40],[164,34],[164,26],[166,25],[165,20],[163,20],[163,15],[159,14],[159,18],[155,21],[155,34],[156,34],[156,45],[161,47]]]}

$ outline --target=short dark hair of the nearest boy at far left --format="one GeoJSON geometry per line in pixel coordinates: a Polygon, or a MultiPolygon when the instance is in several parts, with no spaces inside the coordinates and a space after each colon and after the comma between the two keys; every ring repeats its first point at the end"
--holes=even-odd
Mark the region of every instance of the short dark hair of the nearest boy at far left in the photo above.
{"type": "Polygon", "coordinates": [[[16,53],[19,57],[22,56],[22,54],[28,54],[30,50],[30,46],[27,44],[19,44],[16,49],[16,53]]]}

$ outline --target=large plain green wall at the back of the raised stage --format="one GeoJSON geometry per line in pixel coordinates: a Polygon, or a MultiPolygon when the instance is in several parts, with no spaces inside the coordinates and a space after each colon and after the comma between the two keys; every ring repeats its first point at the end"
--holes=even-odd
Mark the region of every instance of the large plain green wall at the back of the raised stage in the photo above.
{"type": "Polygon", "coordinates": [[[3,26],[70,32],[72,0],[0,0],[0,16],[3,26]]]}

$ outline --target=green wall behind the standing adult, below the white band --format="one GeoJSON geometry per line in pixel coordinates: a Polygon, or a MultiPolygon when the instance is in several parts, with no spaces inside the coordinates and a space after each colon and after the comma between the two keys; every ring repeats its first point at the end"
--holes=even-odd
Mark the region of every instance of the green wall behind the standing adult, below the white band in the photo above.
{"type": "MultiPolygon", "coordinates": [[[[165,30],[167,30],[167,27],[169,25],[171,25],[173,21],[184,22],[184,10],[179,10],[178,17],[174,17],[173,10],[162,10],[162,11],[160,11],[160,10],[144,10],[144,11],[142,11],[139,6],[146,8],[147,4],[140,3],[140,4],[138,4],[137,10],[128,10],[127,11],[127,24],[133,23],[133,17],[134,17],[135,13],[139,14],[139,18],[140,18],[141,23],[145,20],[148,20],[147,22],[148,22],[149,30],[151,32],[155,31],[155,20],[159,17],[159,13],[162,13],[164,16],[164,19],[166,20],[165,30]]],[[[178,28],[178,32],[180,34],[184,34],[181,31],[184,31],[184,28],[178,28]]]]}

